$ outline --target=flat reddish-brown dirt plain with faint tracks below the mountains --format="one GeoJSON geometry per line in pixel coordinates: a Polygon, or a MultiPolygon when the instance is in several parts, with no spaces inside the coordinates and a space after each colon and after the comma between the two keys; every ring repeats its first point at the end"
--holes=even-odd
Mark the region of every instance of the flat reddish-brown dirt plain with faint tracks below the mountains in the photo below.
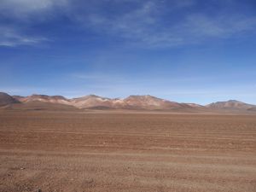
{"type": "Polygon", "coordinates": [[[0,191],[256,191],[256,116],[0,113],[0,191]]]}

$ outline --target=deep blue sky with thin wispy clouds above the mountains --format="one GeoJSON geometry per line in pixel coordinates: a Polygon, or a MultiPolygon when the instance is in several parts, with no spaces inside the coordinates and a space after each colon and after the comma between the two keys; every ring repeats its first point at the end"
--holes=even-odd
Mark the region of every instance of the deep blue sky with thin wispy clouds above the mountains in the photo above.
{"type": "Polygon", "coordinates": [[[0,91],[256,104],[256,1],[0,0],[0,91]]]}

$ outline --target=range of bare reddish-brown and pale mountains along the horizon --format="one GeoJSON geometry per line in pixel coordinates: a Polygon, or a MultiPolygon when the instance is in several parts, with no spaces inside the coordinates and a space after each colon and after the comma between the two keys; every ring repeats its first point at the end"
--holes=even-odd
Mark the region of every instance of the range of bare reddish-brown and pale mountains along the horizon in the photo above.
{"type": "Polygon", "coordinates": [[[9,96],[0,92],[0,106],[2,108],[26,109],[133,109],[159,110],[174,112],[256,112],[256,105],[230,100],[227,102],[212,102],[206,106],[196,103],[179,103],[160,99],[155,96],[128,96],[125,99],[108,98],[102,96],[82,96],[67,99],[64,96],[9,96]]]}

